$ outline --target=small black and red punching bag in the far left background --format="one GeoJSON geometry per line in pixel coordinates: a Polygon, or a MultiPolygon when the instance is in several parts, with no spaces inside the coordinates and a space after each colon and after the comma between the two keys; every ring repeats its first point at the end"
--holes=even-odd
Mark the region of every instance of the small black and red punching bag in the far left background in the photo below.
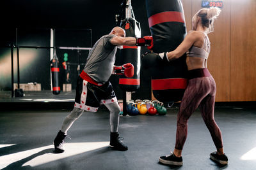
{"type": "Polygon", "coordinates": [[[52,94],[60,94],[60,85],[59,85],[59,60],[51,60],[51,74],[52,74],[52,94]]]}

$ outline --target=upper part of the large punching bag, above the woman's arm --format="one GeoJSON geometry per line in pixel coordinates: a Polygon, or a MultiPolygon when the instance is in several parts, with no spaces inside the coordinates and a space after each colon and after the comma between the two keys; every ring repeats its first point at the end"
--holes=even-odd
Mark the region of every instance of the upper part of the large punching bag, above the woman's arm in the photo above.
{"type": "Polygon", "coordinates": [[[156,53],[175,50],[186,36],[180,0],[146,0],[148,24],[156,53]]]}

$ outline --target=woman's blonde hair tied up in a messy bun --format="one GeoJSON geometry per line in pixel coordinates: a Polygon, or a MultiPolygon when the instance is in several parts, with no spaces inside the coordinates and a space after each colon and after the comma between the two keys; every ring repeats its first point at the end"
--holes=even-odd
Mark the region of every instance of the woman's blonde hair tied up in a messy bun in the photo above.
{"type": "Polygon", "coordinates": [[[196,27],[201,19],[201,23],[204,27],[207,27],[207,34],[213,32],[213,22],[220,15],[220,8],[202,8],[192,18],[192,30],[196,30],[196,27]]]}

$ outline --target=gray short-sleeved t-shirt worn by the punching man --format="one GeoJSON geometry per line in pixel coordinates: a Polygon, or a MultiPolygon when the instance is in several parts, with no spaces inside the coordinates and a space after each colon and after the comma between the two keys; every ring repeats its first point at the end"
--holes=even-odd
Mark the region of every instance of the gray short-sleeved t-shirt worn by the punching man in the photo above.
{"type": "Polygon", "coordinates": [[[112,74],[117,46],[110,40],[114,37],[114,34],[102,36],[93,45],[84,66],[84,72],[98,83],[106,83],[112,74]]]}

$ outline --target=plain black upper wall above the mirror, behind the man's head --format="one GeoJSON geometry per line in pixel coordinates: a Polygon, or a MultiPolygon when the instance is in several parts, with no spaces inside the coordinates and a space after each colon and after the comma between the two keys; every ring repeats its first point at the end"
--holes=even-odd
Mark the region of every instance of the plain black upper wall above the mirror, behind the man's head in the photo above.
{"type": "MultiPolygon", "coordinates": [[[[120,0],[10,0],[1,7],[2,27],[92,29],[95,43],[116,25],[120,0]]],[[[132,1],[132,8],[136,20],[141,22],[142,34],[150,34],[145,0],[132,1]]]]}

